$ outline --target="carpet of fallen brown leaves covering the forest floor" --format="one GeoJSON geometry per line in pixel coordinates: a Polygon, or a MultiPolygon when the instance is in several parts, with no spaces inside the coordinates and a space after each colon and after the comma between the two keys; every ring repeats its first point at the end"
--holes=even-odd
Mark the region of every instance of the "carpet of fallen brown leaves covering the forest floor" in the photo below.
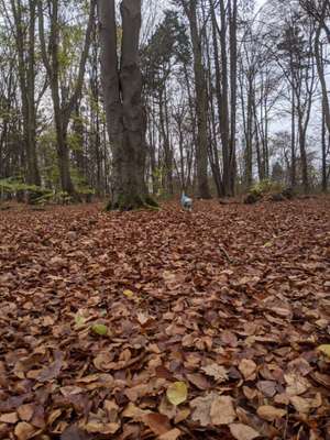
{"type": "Polygon", "coordinates": [[[330,199],[0,212],[0,438],[330,439],[330,199]]]}

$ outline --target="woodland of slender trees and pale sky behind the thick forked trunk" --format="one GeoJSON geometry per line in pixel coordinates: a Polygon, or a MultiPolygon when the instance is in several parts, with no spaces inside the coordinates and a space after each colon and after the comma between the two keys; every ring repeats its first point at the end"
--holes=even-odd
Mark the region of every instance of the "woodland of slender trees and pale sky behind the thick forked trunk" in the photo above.
{"type": "Polygon", "coordinates": [[[112,55],[102,1],[0,0],[2,194],[105,197],[130,175],[118,174],[124,148],[141,161],[131,185],[156,197],[231,197],[263,180],[327,191],[329,0],[142,1],[141,72],[107,95],[102,57],[121,59],[118,75],[132,66],[123,47],[133,22],[110,3],[112,55]],[[129,97],[136,81],[139,102],[129,97]],[[119,140],[120,120],[105,110],[124,96],[133,125],[141,110],[139,140],[119,140]]]}

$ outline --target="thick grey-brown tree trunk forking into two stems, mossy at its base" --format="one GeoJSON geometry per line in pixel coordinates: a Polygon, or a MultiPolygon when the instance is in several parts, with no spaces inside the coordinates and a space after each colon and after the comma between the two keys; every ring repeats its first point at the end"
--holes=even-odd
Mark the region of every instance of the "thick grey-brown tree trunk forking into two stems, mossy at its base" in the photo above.
{"type": "Polygon", "coordinates": [[[117,56],[114,0],[99,0],[101,74],[112,147],[112,198],[109,209],[151,205],[145,185],[146,118],[141,103],[139,66],[141,0],[123,0],[120,66],[117,56]]]}

